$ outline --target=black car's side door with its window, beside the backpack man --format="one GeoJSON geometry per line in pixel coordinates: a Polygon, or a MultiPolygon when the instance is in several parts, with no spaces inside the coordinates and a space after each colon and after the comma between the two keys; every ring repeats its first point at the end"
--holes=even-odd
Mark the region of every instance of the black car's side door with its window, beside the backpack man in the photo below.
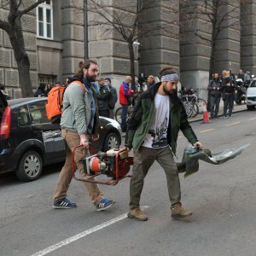
{"type": "Polygon", "coordinates": [[[66,143],[61,137],[60,125],[52,124],[46,116],[46,99],[29,104],[32,131],[35,137],[44,143],[46,164],[64,160],[66,143]]]}

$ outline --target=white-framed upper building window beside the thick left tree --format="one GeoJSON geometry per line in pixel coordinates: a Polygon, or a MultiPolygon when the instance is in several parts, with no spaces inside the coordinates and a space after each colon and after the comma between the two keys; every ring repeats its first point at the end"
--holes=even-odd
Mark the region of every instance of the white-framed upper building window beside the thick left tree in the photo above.
{"type": "Polygon", "coordinates": [[[38,38],[53,39],[52,1],[44,1],[37,8],[38,38]]]}

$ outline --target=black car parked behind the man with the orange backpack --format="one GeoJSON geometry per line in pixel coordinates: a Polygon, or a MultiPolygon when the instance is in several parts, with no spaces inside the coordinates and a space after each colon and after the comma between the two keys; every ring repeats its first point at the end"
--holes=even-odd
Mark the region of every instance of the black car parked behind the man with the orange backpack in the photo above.
{"type": "MultiPolygon", "coordinates": [[[[46,117],[47,97],[0,102],[0,172],[15,171],[22,181],[37,179],[43,166],[65,160],[66,143],[60,125],[46,117]]],[[[113,119],[100,117],[100,139],[94,151],[119,148],[121,129],[113,119]]]]}

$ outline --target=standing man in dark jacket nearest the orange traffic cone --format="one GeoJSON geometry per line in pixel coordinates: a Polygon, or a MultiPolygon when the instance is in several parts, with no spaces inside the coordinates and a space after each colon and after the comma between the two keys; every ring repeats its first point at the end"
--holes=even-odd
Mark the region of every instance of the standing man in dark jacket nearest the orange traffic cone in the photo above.
{"type": "Polygon", "coordinates": [[[218,118],[218,108],[220,97],[222,93],[222,81],[218,77],[218,73],[214,73],[213,79],[208,84],[208,91],[210,92],[211,102],[211,119],[218,118]]]}

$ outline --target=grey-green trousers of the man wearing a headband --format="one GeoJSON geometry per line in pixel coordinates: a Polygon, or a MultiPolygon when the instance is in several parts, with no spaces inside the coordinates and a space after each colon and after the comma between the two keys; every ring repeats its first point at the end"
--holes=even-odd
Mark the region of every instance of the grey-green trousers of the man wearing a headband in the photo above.
{"type": "Polygon", "coordinates": [[[130,183],[130,209],[139,207],[143,191],[144,177],[146,177],[154,160],[166,172],[166,180],[171,204],[176,204],[181,199],[180,183],[177,174],[177,166],[173,160],[172,151],[166,148],[145,148],[141,147],[134,151],[133,169],[130,183]]]}

